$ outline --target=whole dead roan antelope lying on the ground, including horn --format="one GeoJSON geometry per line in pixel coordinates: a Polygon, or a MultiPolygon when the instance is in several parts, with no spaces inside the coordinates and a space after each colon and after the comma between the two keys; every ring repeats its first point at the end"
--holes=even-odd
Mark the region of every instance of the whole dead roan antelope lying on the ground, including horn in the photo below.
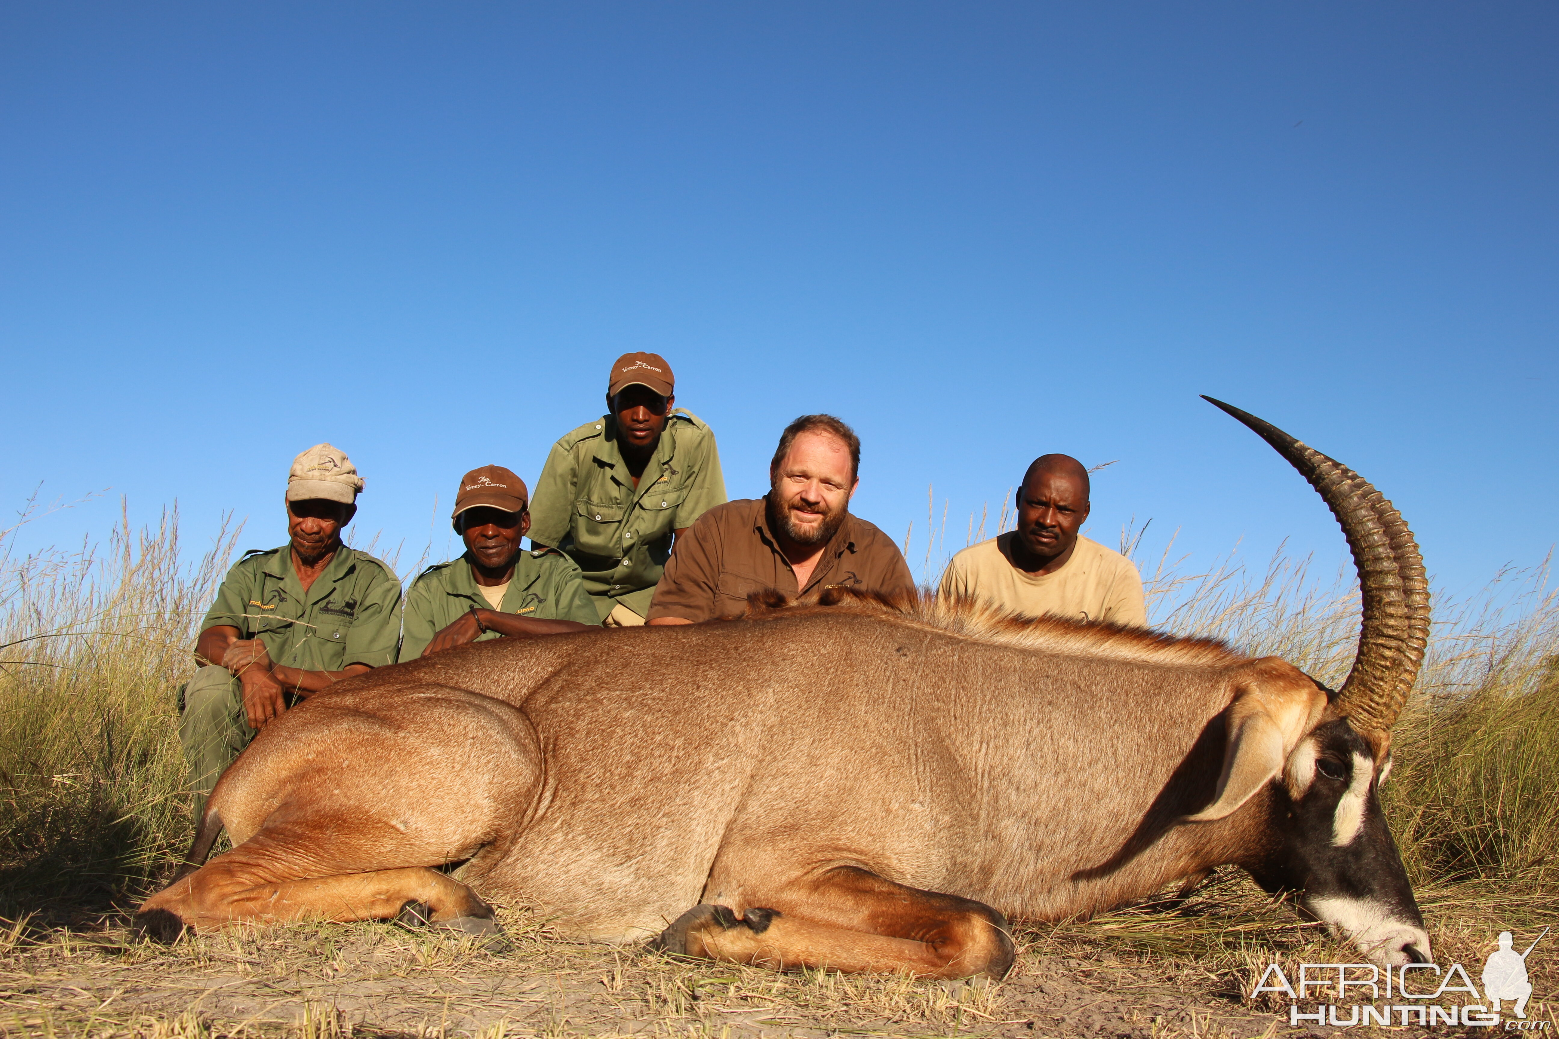
{"type": "Polygon", "coordinates": [[[413,907],[496,932],[480,891],[692,956],[999,977],[1007,917],[1238,863],[1370,958],[1428,960],[1377,798],[1428,629],[1417,547],[1364,480],[1219,407],[1353,548],[1364,623],[1335,693],[1216,642],[842,592],[469,645],[267,726],[139,919],[171,938],[413,907]],[[196,869],[221,827],[235,847],[196,869]]]}

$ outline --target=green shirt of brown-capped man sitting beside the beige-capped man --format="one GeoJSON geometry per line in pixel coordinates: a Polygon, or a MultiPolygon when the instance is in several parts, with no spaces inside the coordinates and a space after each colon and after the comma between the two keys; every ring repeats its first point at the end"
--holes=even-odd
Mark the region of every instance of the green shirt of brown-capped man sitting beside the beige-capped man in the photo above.
{"type": "MultiPolygon", "coordinates": [[[[455,623],[461,614],[471,612],[472,606],[488,609],[482,586],[471,573],[469,551],[422,570],[405,593],[401,659],[415,660],[422,656],[433,636],[455,623]]],[[[600,623],[596,604],[585,593],[580,569],[555,548],[519,553],[497,612],[538,620],[577,620],[582,625],[600,623]]],[[[496,631],[483,631],[475,640],[500,637],[496,631]]]]}

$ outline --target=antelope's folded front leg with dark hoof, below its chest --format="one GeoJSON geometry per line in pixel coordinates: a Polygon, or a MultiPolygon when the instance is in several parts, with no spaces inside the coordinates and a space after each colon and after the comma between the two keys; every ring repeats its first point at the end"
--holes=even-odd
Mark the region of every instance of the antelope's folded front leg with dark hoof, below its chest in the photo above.
{"type": "Polygon", "coordinates": [[[920,891],[853,866],[753,894],[741,917],[723,905],[684,913],[658,939],[667,952],[776,969],[829,967],[928,978],[1001,978],[1016,950],[1001,913],[920,891]]]}

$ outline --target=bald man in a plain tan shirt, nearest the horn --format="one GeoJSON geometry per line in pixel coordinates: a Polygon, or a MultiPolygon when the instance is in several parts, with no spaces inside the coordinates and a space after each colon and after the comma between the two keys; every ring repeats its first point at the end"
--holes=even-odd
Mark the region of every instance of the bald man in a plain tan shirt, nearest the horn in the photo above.
{"type": "Polygon", "coordinates": [[[1034,460],[1018,491],[1018,530],[953,556],[937,595],[973,598],[1024,617],[1147,626],[1132,561],[1079,534],[1088,470],[1069,455],[1034,460]]]}

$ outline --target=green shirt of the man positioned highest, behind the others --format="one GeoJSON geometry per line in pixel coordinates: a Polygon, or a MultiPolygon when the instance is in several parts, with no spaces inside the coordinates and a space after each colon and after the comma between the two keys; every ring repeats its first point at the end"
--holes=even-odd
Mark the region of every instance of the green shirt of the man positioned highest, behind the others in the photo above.
{"type": "Polygon", "coordinates": [[[580,565],[600,618],[617,603],[642,617],[672,531],[722,502],[725,477],[708,425],[673,411],[635,488],[608,414],[553,444],[530,497],[530,541],[561,548],[580,565]]]}

